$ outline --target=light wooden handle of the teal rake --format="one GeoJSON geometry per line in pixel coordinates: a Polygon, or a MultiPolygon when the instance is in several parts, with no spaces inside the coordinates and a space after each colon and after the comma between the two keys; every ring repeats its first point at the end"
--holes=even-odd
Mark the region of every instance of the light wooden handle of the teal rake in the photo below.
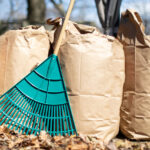
{"type": "Polygon", "coordinates": [[[61,42],[62,42],[62,38],[63,38],[64,32],[65,32],[65,29],[66,29],[68,20],[69,20],[69,18],[70,18],[70,14],[71,14],[71,12],[72,12],[74,3],[75,3],[75,0],[70,0],[70,4],[69,4],[69,8],[68,8],[68,10],[67,10],[67,14],[66,14],[66,17],[65,17],[65,21],[64,21],[64,23],[63,23],[63,26],[62,26],[62,29],[61,29],[59,38],[58,38],[58,40],[57,40],[57,42],[56,42],[56,45],[55,45],[55,47],[54,47],[54,54],[55,54],[56,56],[58,55],[59,48],[60,48],[60,45],[61,45],[61,42]]]}

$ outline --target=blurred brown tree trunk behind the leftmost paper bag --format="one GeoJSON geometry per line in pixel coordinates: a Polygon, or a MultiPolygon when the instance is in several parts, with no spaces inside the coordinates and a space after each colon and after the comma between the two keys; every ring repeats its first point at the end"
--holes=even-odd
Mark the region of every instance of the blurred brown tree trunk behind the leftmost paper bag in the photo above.
{"type": "Polygon", "coordinates": [[[27,0],[28,21],[30,24],[43,23],[45,21],[45,0],[27,0]]]}

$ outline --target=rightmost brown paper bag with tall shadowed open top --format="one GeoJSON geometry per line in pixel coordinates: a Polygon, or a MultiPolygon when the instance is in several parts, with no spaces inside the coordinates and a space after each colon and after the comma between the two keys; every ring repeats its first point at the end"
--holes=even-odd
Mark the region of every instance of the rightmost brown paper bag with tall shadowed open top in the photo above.
{"type": "Polygon", "coordinates": [[[121,131],[131,139],[150,139],[150,38],[137,12],[122,14],[118,38],[126,61],[121,131]]]}

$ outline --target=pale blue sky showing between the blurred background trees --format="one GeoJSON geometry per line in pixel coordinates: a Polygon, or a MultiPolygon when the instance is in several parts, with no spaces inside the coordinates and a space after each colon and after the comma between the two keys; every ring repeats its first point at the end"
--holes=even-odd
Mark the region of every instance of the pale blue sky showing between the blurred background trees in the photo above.
{"type": "MultiPolygon", "coordinates": [[[[0,0],[0,19],[8,19],[10,16],[10,10],[11,5],[10,1],[12,0],[0,0]]],[[[45,0],[47,5],[47,17],[54,17],[53,14],[50,13],[51,9],[53,8],[53,5],[49,2],[50,0],[45,0]]],[[[57,1],[57,0],[56,0],[57,1]]],[[[64,0],[65,6],[67,9],[69,0],[64,0]]],[[[26,17],[27,14],[27,4],[26,0],[13,0],[13,7],[14,7],[14,18],[22,18],[26,17]]],[[[150,17],[150,0],[123,0],[121,5],[121,12],[125,11],[127,8],[133,8],[137,10],[141,15],[144,14],[150,17]]],[[[58,14],[56,14],[55,17],[57,17],[58,14]]],[[[96,7],[95,7],[95,1],[94,0],[76,0],[75,8],[72,13],[72,20],[84,20],[84,21],[94,21],[98,26],[100,26],[96,7]],[[85,3],[84,3],[85,2],[85,3]],[[82,7],[82,13],[81,9],[77,9],[78,7],[82,7]]],[[[9,18],[11,20],[11,18],[9,18]]]]}

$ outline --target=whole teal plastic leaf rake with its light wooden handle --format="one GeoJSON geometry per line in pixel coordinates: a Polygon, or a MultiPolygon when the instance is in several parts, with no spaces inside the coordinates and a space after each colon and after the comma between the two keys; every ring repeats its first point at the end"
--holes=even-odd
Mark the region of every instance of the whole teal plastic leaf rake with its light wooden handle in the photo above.
{"type": "Polygon", "coordinates": [[[70,1],[54,54],[0,97],[0,125],[23,134],[77,134],[57,57],[74,2],[70,1]]]}

